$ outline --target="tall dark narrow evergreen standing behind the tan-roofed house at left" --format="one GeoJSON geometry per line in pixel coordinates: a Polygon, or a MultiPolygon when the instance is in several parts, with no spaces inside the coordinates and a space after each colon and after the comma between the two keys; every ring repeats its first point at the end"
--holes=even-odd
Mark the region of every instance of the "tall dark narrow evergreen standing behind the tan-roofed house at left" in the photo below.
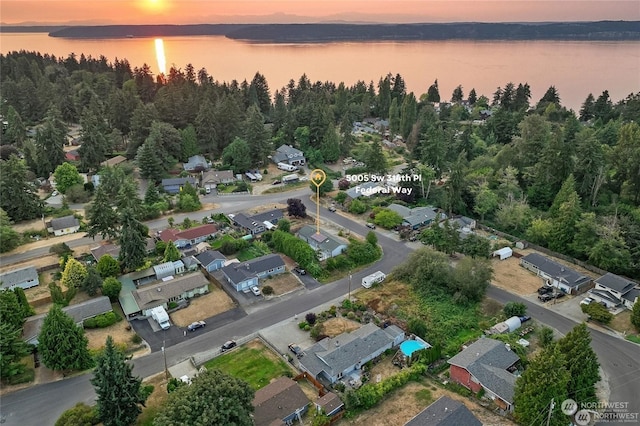
{"type": "Polygon", "coordinates": [[[135,270],[144,265],[147,255],[148,231],[136,219],[133,211],[126,209],[121,214],[120,255],[118,260],[122,269],[135,270]]]}

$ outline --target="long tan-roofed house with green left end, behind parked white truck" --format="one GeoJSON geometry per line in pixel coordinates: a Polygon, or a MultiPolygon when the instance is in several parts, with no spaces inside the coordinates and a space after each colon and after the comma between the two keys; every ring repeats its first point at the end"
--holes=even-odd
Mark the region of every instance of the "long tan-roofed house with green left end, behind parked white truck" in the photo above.
{"type": "Polygon", "coordinates": [[[151,310],[169,302],[181,302],[209,291],[209,280],[202,272],[193,272],[167,281],[135,288],[123,283],[119,301],[127,318],[148,317],[151,310]]]}

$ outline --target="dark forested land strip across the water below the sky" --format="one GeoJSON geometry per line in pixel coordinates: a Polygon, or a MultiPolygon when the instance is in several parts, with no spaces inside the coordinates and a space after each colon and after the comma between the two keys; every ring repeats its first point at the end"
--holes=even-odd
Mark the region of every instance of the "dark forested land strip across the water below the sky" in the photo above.
{"type": "Polygon", "coordinates": [[[272,43],[412,40],[640,40],[639,21],[448,24],[201,24],[68,27],[51,37],[224,35],[272,43]]]}

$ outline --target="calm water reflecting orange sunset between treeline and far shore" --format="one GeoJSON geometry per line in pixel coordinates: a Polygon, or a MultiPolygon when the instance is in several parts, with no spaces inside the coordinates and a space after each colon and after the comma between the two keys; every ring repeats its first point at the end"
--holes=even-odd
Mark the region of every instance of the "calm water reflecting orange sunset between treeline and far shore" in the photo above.
{"type": "MultiPolygon", "coordinates": [[[[262,73],[271,92],[306,73],[314,81],[358,80],[367,84],[399,73],[418,96],[438,79],[440,96],[451,97],[461,84],[492,98],[498,86],[529,83],[532,103],[554,85],[562,104],[575,110],[589,93],[608,90],[617,102],[640,91],[640,42],[418,41],[318,44],[257,44],[221,36],[165,37],[167,66],[191,63],[218,81],[250,81],[262,73]]],[[[127,58],[132,67],[158,68],[153,38],[85,40],[48,37],[45,33],[0,34],[0,51],[35,50],[66,57],[70,53],[109,61],[127,58]]]]}

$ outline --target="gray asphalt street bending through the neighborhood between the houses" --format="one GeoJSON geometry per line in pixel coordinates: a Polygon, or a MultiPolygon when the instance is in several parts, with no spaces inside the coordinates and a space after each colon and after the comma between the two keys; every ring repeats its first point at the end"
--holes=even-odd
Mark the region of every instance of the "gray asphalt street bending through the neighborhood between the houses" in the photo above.
{"type": "MultiPolygon", "coordinates": [[[[251,197],[251,200],[226,200],[221,204],[221,209],[233,208],[234,211],[246,209],[247,206],[255,206],[258,203],[281,201],[291,197],[300,197],[307,205],[308,212],[315,211],[315,204],[308,199],[309,189],[299,190],[287,194],[275,194],[269,197],[251,197]],[[269,200],[269,201],[267,201],[269,200]],[[229,204],[227,204],[229,203],[229,204]],[[225,207],[222,207],[222,205],[225,207]],[[229,205],[231,207],[229,207],[229,205]]],[[[217,209],[219,210],[219,209],[217,209]]],[[[211,212],[201,212],[202,217],[211,212]]],[[[194,217],[195,215],[190,215],[194,217]]],[[[339,214],[331,213],[321,208],[321,216],[329,218],[336,224],[365,235],[368,228],[363,224],[354,222],[339,214]]],[[[177,217],[176,221],[179,221],[177,217]]],[[[156,226],[161,226],[162,221],[156,221],[156,226]]],[[[166,222],[166,221],[165,221],[166,222]]],[[[153,225],[149,224],[153,229],[153,225]]],[[[403,242],[388,238],[384,232],[376,231],[378,241],[383,249],[383,258],[374,265],[353,274],[352,285],[359,285],[362,277],[371,272],[381,270],[389,272],[394,266],[407,258],[411,248],[403,242]]],[[[242,336],[254,333],[262,328],[269,327],[280,321],[289,319],[298,313],[311,310],[318,305],[333,299],[346,296],[349,291],[349,279],[344,278],[331,284],[318,287],[314,290],[303,290],[284,299],[264,301],[264,307],[251,312],[231,323],[227,323],[215,330],[207,327],[206,333],[200,333],[186,341],[182,341],[166,349],[167,364],[175,365],[189,358],[192,354],[210,351],[219,347],[227,340],[238,339],[242,336]]],[[[518,301],[528,306],[529,314],[537,321],[558,329],[561,333],[567,333],[576,323],[567,319],[544,306],[533,304],[525,299],[517,297],[503,290],[491,287],[488,296],[501,302],[518,301]]],[[[630,342],[619,337],[612,336],[599,330],[591,329],[593,336],[593,348],[598,354],[606,377],[610,381],[610,401],[628,402],[629,412],[640,412],[640,371],[638,360],[640,349],[630,342]]],[[[159,373],[164,369],[162,352],[154,352],[147,356],[132,361],[133,372],[142,377],[148,377],[159,373]]],[[[7,425],[53,425],[60,414],[75,405],[79,401],[91,403],[95,398],[93,388],[89,380],[91,374],[66,379],[59,382],[34,386],[22,391],[9,394],[2,398],[0,410],[1,416],[7,425]],[[64,397],[61,397],[64,395],[64,397]]],[[[614,423],[607,423],[612,425],[614,423]]]]}

